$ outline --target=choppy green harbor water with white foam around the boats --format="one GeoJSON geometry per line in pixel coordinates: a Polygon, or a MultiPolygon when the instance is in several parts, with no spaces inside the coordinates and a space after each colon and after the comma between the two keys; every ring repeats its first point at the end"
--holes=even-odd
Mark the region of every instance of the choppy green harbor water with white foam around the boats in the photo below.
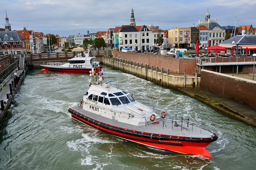
{"type": "MultiPolygon", "coordinates": [[[[29,71],[0,129],[0,169],[255,169],[256,128],[136,76],[104,66],[104,81],[147,106],[180,114],[218,135],[206,149],[213,156],[164,152],[117,139],[72,119],[89,88],[88,74],[29,71]]],[[[169,125],[171,126],[171,125],[169,125]]]]}

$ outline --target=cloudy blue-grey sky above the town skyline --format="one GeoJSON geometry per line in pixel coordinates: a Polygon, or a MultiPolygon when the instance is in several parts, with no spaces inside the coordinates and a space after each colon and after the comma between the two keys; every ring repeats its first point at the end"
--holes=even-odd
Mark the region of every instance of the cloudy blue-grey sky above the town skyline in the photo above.
{"type": "Polygon", "coordinates": [[[197,25],[207,7],[221,26],[235,25],[237,18],[236,26],[256,27],[256,0],[0,0],[0,28],[7,10],[12,30],[28,27],[60,37],[96,33],[128,25],[133,8],[136,25],[165,30],[197,25]]]}

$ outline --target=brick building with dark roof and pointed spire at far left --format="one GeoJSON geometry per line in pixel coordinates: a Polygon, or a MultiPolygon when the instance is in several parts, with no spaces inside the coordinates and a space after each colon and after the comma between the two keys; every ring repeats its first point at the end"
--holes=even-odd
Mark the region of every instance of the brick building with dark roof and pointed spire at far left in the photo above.
{"type": "Polygon", "coordinates": [[[18,34],[12,31],[9,18],[5,18],[4,31],[0,31],[0,56],[3,55],[19,55],[26,53],[26,41],[18,34]]]}

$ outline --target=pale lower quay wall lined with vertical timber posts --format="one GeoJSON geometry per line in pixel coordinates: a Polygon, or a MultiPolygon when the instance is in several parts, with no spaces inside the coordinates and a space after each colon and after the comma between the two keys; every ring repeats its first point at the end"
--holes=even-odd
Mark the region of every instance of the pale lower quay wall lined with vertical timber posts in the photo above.
{"type": "Polygon", "coordinates": [[[170,69],[167,68],[165,71],[163,67],[154,68],[153,65],[139,63],[137,61],[130,61],[117,57],[103,56],[102,63],[110,66],[116,70],[132,74],[139,78],[154,82],[165,88],[199,88],[200,77],[186,76],[186,70],[183,72],[184,75],[177,76],[170,74],[170,69]]]}

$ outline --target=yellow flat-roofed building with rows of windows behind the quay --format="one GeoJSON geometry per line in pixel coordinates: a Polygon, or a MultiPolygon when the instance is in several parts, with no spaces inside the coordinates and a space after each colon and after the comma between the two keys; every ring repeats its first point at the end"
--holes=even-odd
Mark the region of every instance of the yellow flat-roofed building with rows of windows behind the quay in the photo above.
{"type": "Polygon", "coordinates": [[[169,48],[188,48],[191,43],[191,28],[168,29],[169,48]]]}

